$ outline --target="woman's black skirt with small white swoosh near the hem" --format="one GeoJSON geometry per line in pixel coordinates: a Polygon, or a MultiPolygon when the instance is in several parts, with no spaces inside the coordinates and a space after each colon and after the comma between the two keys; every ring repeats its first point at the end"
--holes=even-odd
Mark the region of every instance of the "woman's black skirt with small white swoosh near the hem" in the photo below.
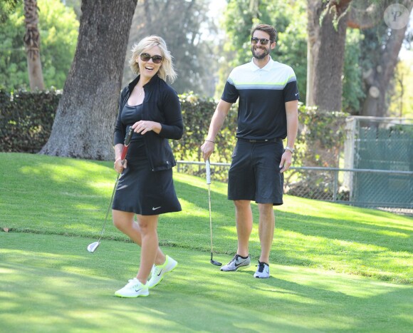
{"type": "Polygon", "coordinates": [[[152,171],[142,140],[132,141],[127,151],[127,168],[120,175],[112,208],[139,215],[179,212],[172,169],[152,171]]]}

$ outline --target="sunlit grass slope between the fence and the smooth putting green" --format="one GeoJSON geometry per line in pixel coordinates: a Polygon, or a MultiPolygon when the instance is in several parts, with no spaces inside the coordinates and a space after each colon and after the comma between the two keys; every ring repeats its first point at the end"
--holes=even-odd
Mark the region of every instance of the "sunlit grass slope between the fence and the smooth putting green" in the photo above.
{"type": "MultiPolygon", "coordinates": [[[[0,227],[87,237],[100,234],[115,184],[112,162],[0,154],[0,227]],[[14,165],[13,170],[9,165],[14,165]]],[[[176,171],[176,170],[175,170],[176,171]]],[[[206,180],[174,173],[182,212],[161,215],[164,246],[210,251],[206,180]]],[[[226,184],[212,179],[211,219],[214,252],[229,261],[236,251],[234,205],[226,184]]],[[[298,265],[390,282],[413,282],[413,219],[389,212],[354,208],[286,195],[274,208],[276,231],[271,264],[298,265]]],[[[258,260],[258,209],[252,205],[254,227],[250,254],[258,260]]],[[[111,216],[105,239],[128,241],[111,216]]]]}

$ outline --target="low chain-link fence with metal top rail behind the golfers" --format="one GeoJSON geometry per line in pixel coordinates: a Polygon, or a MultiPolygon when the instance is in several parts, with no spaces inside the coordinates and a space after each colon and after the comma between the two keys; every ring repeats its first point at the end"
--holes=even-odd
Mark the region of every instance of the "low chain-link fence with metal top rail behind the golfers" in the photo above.
{"type": "MultiPolygon", "coordinates": [[[[211,178],[214,178],[214,174],[221,175],[224,170],[227,172],[229,165],[211,163],[211,178]]],[[[179,160],[177,171],[203,177],[205,164],[179,160]]],[[[222,181],[221,177],[219,179],[222,181]]],[[[412,171],[291,167],[284,175],[284,193],[413,216],[412,171]],[[348,179],[355,182],[362,180],[363,186],[353,184],[352,188],[348,188],[348,179]],[[399,203],[397,195],[392,195],[400,191],[405,197],[403,203],[399,203]],[[358,198],[363,198],[363,201],[358,198]]]]}

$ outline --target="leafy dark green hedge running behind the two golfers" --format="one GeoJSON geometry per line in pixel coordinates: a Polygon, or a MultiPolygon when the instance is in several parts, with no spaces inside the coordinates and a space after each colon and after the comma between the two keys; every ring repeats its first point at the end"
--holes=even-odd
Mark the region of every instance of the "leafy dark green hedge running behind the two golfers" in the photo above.
{"type": "MultiPolygon", "coordinates": [[[[43,91],[16,94],[0,91],[0,151],[38,153],[51,134],[61,93],[43,91]]],[[[194,93],[179,95],[184,118],[184,135],[171,140],[177,160],[201,161],[200,145],[208,133],[216,108],[212,98],[194,93]]],[[[237,105],[232,106],[223,128],[216,136],[216,151],[211,162],[229,163],[236,143],[237,105]]],[[[320,112],[299,108],[300,129],[296,140],[294,165],[338,167],[338,157],[345,139],[346,113],[320,112]]],[[[184,165],[187,173],[200,175],[204,167],[184,165]]],[[[214,168],[216,179],[226,180],[226,168],[214,168]]]]}

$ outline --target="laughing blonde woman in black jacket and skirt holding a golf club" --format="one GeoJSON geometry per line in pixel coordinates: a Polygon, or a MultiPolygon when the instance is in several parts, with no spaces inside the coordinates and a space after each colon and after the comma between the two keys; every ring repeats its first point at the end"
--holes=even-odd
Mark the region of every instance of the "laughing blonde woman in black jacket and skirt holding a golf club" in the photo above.
{"type": "Polygon", "coordinates": [[[132,48],[129,64],[137,78],[122,90],[115,125],[115,170],[122,175],[113,199],[113,223],[142,249],[137,276],[115,292],[118,297],[147,296],[177,266],[160,250],[157,222],[160,214],[182,210],[172,181],[177,163],[168,143],[182,138],[184,128],[177,93],[165,82],[177,76],[172,57],[162,38],[148,36],[132,48]],[[122,164],[130,126],[134,133],[122,164]]]}

